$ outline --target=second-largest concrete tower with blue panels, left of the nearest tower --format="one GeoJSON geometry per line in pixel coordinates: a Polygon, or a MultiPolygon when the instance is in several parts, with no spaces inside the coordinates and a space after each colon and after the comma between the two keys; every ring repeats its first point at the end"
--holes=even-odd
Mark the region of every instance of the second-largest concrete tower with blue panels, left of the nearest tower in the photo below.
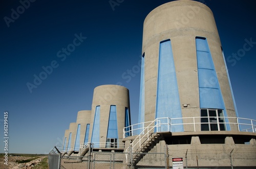
{"type": "Polygon", "coordinates": [[[122,142],[123,128],[130,125],[129,90],[118,85],[96,87],[89,134],[94,147],[123,148],[118,144],[122,142]]]}

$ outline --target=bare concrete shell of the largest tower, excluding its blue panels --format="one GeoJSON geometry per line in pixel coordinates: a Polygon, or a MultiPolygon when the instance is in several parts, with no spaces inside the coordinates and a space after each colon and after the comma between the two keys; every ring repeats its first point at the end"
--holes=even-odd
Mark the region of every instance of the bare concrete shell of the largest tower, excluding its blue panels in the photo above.
{"type": "Polygon", "coordinates": [[[200,116],[197,36],[208,41],[227,115],[236,117],[214,15],[204,4],[184,0],[157,7],[144,21],[145,122],[155,119],[159,43],[166,39],[172,44],[182,117],[200,116]]]}

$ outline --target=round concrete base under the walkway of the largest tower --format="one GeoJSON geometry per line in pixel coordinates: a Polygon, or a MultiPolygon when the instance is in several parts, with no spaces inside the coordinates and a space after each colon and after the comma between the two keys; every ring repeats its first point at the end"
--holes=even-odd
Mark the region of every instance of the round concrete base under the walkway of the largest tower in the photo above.
{"type": "MultiPolygon", "coordinates": [[[[201,166],[256,166],[256,133],[238,132],[238,131],[204,131],[204,132],[177,132],[165,133],[156,146],[148,152],[137,165],[162,165],[165,163],[165,156],[169,157],[169,165],[172,166],[172,158],[183,158],[183,166],[197,168],[201,166]],[[187,144],[166,144],[171,139],[180,139],[184,136],[190,136],[191,141],[187,144]],[[223,139],[222,143],[205,143],[203,138],[214,137],[223,139]],[[206,137],[205,137],[206,136],[206,137]],[[233,138],[241,139],[240,143],[235,143],[233,138]],[[202,142],[201,142],[202,140],[202,142]],[[243,141],[249,141],[242,143],[243,141]],[[167,146],[167,150],[166,150],[167,146]],[[168,154],[167,154],[168,153],[168,154]],[[230,160],[231,153],[231,160],[230,160]],[[187,156],[187,158],[186,158],[187,156]]],[[[125,150],[131,144],[131,140],[136,137],[127,137],[125,141],[125,150]]],[[[214,139],[212,139],[214,141],[214,139]]],[[[135,149],[136,150],[136,149],[135,149]]]]}

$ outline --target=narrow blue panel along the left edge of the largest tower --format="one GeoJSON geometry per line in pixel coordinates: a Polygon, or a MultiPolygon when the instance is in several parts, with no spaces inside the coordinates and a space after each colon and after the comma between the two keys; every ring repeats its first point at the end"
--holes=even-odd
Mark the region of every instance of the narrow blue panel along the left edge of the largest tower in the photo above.
{"type": "MultiPolygon", "coordinates": [[[[144,79],[144,57],[145,54],[141,57],[141,77],[140,77],[140,103],[139,103],[139,119],[138,123],[144,123],[145,122],[145,79],[144,79]]],[[[142,128],[142,124],[139,125],[139,128],[142,128]]],[[[139,130],[138,132],[141,133],[143,130],[139,130]]],[[[137,134],[139,134],[137,133],[137,134]]]]}

